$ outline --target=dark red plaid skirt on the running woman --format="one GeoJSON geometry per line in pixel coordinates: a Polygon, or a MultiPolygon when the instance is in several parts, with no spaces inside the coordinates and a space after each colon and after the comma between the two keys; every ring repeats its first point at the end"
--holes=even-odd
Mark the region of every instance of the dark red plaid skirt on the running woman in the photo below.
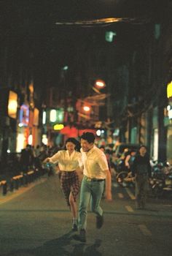
{"type": "Polygon", "coordinates": [[[70,203],[69,203],[70,193],[73,195],[75,202],[77,200],[77,195],[79,194],[79,177],[75,170],[72,172],[61,171],[60,173],[61,173],[60,186],[63,190],[66,203],[68,206],[70,206],[70,203]]]}

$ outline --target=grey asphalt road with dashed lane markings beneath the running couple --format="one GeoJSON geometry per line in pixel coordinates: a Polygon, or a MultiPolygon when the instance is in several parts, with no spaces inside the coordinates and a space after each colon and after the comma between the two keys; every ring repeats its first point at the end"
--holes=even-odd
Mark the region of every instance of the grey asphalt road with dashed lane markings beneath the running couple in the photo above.
{"type": "Polygon", "coordinates": [[[113,184],[113,201],[102,199],[101,206],[104,225],[96,230],[95,215],[89,211],[84,244],[71,232],[58,176],[0,196],[0,255],[171,255],[171,200],[149,199],[145,210],[136,210],[132,189],[113,184]]]}

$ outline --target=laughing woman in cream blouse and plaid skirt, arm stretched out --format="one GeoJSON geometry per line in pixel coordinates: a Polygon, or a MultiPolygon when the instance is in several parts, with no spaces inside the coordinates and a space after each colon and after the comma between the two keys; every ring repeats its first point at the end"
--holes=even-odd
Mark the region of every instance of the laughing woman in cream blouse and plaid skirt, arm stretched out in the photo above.
{"type": "Polygon", "coordinates": [[[75,138],[66,140],[66,150],[60,150],[52,157],[44,159],[45,162],[58,164],[60,170],[60,186],[66,203],[72,214],[72,230],[77,231],[77,195],[79,193],[79,176],[77,169],[81,161],[81,153],[75,150],[78,141],[75,138]]]}

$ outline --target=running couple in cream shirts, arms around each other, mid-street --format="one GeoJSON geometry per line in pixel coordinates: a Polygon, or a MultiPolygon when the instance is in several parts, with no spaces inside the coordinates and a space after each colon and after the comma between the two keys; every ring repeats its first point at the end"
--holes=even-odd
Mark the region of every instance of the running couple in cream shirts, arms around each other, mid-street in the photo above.
{"type": "Polygon", "coordinates": [[[96,214],[96,227],[103,225],[103,209],[100,206],[104,185],[106,184],[106,199],[112,200],[111,173],[106,156],[94,144],[92,132],[84,132],[81,136],[81,150],[76,151],[77,140],[66,140],[66,150],[58,151],[44,162],[58,163],[61,176],[60,184],[70,207],[73,217],[72,230],[79,229],[79,240],[86,242],[87,207],[96,214]],[[77,218],[77,195],[79,194],[78,167],[83,170],[79,198],[79,217],[77,218]],[[77,220],[78,219],[78,220],[77,220]]]}

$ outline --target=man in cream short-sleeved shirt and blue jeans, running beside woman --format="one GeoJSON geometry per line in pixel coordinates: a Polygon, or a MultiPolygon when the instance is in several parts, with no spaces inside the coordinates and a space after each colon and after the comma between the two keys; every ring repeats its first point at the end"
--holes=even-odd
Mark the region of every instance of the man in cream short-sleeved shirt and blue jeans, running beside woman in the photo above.
{"type": "Polygon", "coordinates": [[[111,173],[106,156],[94,145],[92,132],[84,132],[81,136],[81,153],[83,178],[79,199],[79,241],[86,242],[87,207],[96,214],[96,227],[103,225],[103,209],[100,206],[103,188],[106,181],[106,199],[112,200],[111,173]]]}

